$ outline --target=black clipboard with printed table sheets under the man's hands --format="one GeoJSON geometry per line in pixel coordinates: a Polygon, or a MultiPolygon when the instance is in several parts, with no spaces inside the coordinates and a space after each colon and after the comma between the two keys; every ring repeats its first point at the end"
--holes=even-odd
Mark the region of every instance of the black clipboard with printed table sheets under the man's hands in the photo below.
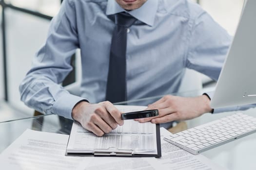
{"type": "MultiPolygon", "coordinates": [[[[117,105],[122,112],[143,110],[145,106],[117,105]]],[[[96,136],[74,122],[70,133],[67,155],[160,156],[159,125],[124,120],[111,133],[96,136]]]]}

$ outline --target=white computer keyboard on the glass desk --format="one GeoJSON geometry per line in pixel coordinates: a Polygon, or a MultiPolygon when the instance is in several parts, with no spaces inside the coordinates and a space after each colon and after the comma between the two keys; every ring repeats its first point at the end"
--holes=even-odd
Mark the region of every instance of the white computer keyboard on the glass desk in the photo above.
{"type": "Polygon", "coordinates": [[[164,140],[198,154],[256,132],[256,118],[236,113],[203,125],[166,136],[164,140]]]}

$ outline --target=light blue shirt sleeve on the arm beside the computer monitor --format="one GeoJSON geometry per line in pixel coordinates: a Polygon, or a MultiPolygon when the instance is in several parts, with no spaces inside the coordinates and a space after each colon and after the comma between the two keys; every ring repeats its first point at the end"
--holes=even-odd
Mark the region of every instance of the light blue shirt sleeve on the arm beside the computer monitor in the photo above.
{"type": "Polygon", "coordinates": [[[232,37],[205,11],[194,19],[186,67],[217,81],[232,37]]]}

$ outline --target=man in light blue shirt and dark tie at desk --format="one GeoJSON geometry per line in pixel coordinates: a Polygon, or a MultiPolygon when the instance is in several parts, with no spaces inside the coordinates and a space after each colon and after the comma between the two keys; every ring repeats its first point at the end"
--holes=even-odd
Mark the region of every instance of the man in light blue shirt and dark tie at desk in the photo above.
{"type": "MultiPolygon", "coordinates": [[[[177,92],[185,68],[217,80],[230,43],[227,32],[188,0],[64,0],[20,85],[21,100],[40,112],[75,119],[102,136],[123,124],[112,102],[177,92]],[[70,58],[78,48],[81,97],[59,85],[71,71],[70,58]],[[114,55],[120,55],[116,59],[122,64],[114,55]],[[111,79],[113,72],[122,75],[119,82],[111,79]],[[112,100],[119,92],[111,88],[119,86],[122,97],[112,100]]],[[[140,122],[193,119],[213,111],[207,95],[167,95],[148,109],[158,109],[159,116],[140,122]]]]}

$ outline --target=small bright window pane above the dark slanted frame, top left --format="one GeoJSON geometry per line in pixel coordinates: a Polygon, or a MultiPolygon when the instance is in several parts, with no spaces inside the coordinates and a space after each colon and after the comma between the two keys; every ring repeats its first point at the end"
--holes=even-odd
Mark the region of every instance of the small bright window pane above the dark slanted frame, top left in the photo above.
{"type": "Polygon", "coordinates": [[[5,3],[48,16],[55,16],[60,7],[60,0],[5,0],[5,3]]]}

